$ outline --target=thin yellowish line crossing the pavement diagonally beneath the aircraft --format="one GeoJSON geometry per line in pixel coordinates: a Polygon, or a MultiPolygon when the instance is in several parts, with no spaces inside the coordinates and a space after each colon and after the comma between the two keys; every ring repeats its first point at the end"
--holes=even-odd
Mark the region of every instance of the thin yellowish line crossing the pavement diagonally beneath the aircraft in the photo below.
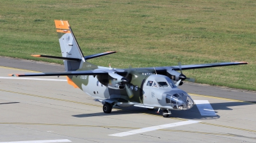
{"type": "MultiPolygon", "coordinates": [[[[20,93],[20,92],[8,91],[8,90],[4,90],[4,89],[0,89],[0,91],[8,92],[8,93],[24,94],[24,95],[35,96],[35,97],[40,97],[40,98],[47,98],[47,99],[58,100],[58,101],[63,101],[63,102],[72,102],[72,103],[79,103],[79,104],[83,104],[83,105],[90,105],[90,106],[95,106],[95,107],[102,107],[102,106],[100,106],[100,105],[94,105],[94,104],[91,104],[91,103],[75,102],[75,101],[72,101],[72,100],[63,100],[63,99],[60,99],[60,98],[51,98],[51,97],[47,97],[47,96],[40,96],[40,95],[28,94],[28,93],[20,93]]],[[[122,109],[116,109],[116,110],[122,110],[122,109]]],[[[129,111],[129,110],[128,110],[128,111],[129,111]]],[[[133,112],[133,111],[129,111],[129,112],[133,112]]],[[[150,116],[159,116],[159,115],[148,114],[148,113],[143,113],[143,112],[141,112],[141,114],[146,114],[146,115],[150,115],[150,116]]],[[[180,121],[188,121],[188,119],[182,119],[182,118],[179,118],[179,117],[172,117],[172,118],[170,118],[170,119],[177,119],[177,120],[180,120],[180,121]]],[[[1,123],[0,123],[0,124],[1,124],[1,123]]],[[[220,125],[220,124],[211,124],[211,123],[205,123],[205,122],[200,122],[200,124],[207,124],[207,125],[212,125],[212,126],[220,126],[220,127],[223,127],[223,128],[232,128],[232,129],[236,129],[236,130],[243,130],[243,131],[255,132],[255,133],[256,133],[255,130],[248,130],[248,129],[243,129],[243,128],[236,128],[236,127],[232,127],[232,126],[223,126],[223,125],[220,125]]]]}

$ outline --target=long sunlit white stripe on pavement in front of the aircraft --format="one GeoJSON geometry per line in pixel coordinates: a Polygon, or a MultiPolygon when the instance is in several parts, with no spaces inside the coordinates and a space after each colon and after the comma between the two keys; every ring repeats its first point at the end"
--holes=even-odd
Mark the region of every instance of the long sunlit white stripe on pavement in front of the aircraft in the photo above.
{"type": "Polygon", "coordinates": [[[186,125],[186,124],[194,124],[194,123],[199,123],[199,122],[200,121],[189,120],[189,121],[182,121],[182,122],[171,123],[171,124],[163,124],[163,125],[159,125],[159,126],[151,126],[151,127],[147,127],[147,128],[141,128],[138,130],[131,130],[128,132],[115,133],[115,134],[112,134],[111,136],[124,137],[127,135],[134,135],[137,133],[145,133],[145,132],[150,132],[150,131],[154,131],[154,130],[160,130],[163,128],[171,128],[171,127],[175,127],[175,126],[182,126],[182,125],[186,125]]]}

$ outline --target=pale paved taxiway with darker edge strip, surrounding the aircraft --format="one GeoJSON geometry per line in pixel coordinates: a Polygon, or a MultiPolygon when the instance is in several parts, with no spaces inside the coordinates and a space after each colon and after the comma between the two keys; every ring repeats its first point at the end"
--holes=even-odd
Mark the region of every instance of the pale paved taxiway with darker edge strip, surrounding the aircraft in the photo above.
{"type": "Polygon", "coordinates": [[[0,57],[0,71],[0,142],[256,142],[253,92],[186,83],[180,88],[211,103],[216,115],[202,116],[199,105],[168,118],[140,107],[104,114],[65,77],[8,77],[63,66],[0,57]]]}

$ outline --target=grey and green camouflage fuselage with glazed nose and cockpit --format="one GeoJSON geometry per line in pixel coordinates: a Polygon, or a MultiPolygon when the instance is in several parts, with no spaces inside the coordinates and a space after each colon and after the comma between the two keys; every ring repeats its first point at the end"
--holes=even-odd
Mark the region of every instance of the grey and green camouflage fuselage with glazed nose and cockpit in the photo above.
{"type": "Polygon", "coordinates": [[[69,78],[84,93],[98,100],[115,100],[116,105],[120,107],[145,105],[161,109],[186,110],[194,104],[191,97],[175,86],[173,81],[165,75],[137,71],[129,73],[130,82],[127,87],[132,91],[132,98],[127,96],[125,88],[113,87],[111,85],[113,79],[109,76],[79,75],[69,76],[69,78]]]}

